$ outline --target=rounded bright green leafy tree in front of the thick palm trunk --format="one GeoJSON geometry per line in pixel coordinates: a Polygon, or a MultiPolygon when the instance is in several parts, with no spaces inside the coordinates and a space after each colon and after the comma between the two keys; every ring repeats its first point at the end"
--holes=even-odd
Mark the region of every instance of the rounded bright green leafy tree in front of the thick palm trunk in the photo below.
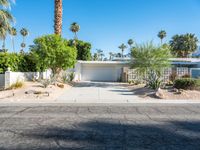
{"type": "Polygon", "coordinates": [[[77,52],[60,35],[46,35],[34,40],[31,55],[38,70],[50,68],[55,75],[74,66],[77,52]]]}

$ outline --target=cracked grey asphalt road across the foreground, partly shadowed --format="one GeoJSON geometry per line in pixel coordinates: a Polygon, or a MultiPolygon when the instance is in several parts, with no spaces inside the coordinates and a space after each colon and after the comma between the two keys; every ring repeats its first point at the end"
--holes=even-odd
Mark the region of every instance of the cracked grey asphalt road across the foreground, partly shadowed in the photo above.
{"type": "Polygon", "coordinates": [[[1,150],[199,150],[200,104],[0,106],[1,150]]]}

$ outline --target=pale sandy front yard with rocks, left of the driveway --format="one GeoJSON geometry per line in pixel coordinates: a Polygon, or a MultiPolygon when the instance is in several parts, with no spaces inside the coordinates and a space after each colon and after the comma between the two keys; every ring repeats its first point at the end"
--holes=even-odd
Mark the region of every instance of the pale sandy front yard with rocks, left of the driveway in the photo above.
{"type": "Polygon", "coordinates": [[[64,87],[49,85],[44,88],[38,82],[25,82],[22,88],[0,91],[0,102],[56,102],[56,99],[71,88],[69,84],[64,87]]]}

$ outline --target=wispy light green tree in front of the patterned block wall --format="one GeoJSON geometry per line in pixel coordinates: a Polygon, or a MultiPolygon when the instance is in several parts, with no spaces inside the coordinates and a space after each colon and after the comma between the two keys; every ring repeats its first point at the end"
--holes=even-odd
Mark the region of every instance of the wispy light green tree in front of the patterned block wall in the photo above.
{"type": "Polygon", "coordinates": [[[152,89],[157,89],[162,83],[163,69],[170,66],[170,49],[166,46],[156,47],[151,43],[136,45],[132,49],[131,68],[136,69],[152,89]]]}

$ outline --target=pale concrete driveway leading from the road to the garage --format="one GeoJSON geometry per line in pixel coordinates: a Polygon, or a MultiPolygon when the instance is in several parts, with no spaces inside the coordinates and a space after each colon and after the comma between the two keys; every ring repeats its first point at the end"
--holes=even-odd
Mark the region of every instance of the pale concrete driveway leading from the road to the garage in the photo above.
{"type": "Polygon", "coordinates": [[[58,100],[67,103],[128,103],[140,99],[121,83],[81,82],[58,100]]]}

